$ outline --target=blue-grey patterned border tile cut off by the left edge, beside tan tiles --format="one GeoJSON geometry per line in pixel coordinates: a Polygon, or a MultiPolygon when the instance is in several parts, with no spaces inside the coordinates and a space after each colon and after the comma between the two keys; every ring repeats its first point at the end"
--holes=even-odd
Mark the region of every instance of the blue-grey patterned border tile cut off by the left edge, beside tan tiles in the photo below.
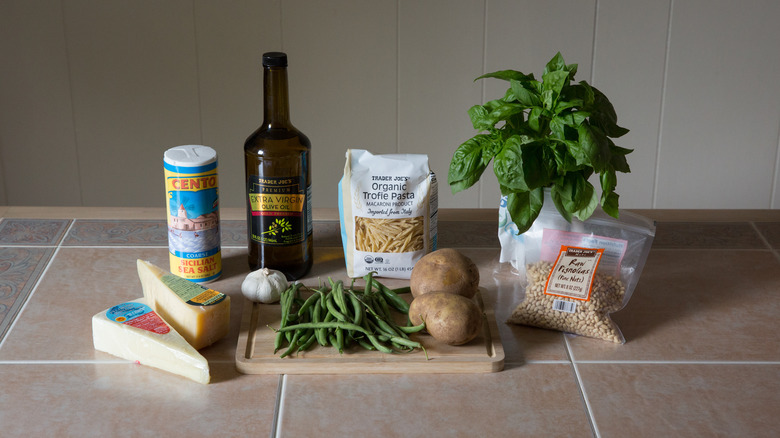
{"type": "Polygon", "coordinates": [[[54,248],[0,247],[0,341],[54,254],[54,248]]]}

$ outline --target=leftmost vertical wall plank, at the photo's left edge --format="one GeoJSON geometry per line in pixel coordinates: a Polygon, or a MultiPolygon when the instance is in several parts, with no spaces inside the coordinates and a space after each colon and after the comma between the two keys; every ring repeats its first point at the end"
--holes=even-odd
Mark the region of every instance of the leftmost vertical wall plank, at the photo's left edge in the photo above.
{"type": "Polygon", "coordinates": [[[81,204],[70,93],[60,2],[0,2],[0,202],[81,204]]]}

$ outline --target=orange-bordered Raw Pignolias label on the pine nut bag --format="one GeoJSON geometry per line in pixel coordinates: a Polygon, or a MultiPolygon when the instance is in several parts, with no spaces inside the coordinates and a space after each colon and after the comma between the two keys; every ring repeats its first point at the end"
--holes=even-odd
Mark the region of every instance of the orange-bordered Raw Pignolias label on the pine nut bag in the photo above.
{"type": "Polygon", "coordinates": [[[578,248],[562,245],[547,284],[545,295],[590,300],[593,278],[604,249],[578,248]]]}

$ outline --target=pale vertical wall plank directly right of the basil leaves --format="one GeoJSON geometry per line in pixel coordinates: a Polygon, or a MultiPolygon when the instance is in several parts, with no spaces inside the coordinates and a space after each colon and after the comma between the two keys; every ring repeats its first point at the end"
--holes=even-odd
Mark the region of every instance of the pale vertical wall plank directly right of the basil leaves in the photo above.
{"type": "Polygon", "coordinates": [[[615,143],[634,149],[631,173],[618,174],[621,208],[653,203],[669,8],[670,0],[598,3],[592,84],[630,129],[615,143]]]}

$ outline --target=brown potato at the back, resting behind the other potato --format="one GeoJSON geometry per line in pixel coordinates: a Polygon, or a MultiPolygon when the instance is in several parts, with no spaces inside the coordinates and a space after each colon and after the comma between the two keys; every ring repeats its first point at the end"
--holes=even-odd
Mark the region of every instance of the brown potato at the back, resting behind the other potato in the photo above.
{"type": "Polygon", "coordinates": [[[412,296],[447,292],[473,298],[479,288],[479,270],[470,258],[452,248],[426,254],[415,263],[409,278],[412,296]]]}

